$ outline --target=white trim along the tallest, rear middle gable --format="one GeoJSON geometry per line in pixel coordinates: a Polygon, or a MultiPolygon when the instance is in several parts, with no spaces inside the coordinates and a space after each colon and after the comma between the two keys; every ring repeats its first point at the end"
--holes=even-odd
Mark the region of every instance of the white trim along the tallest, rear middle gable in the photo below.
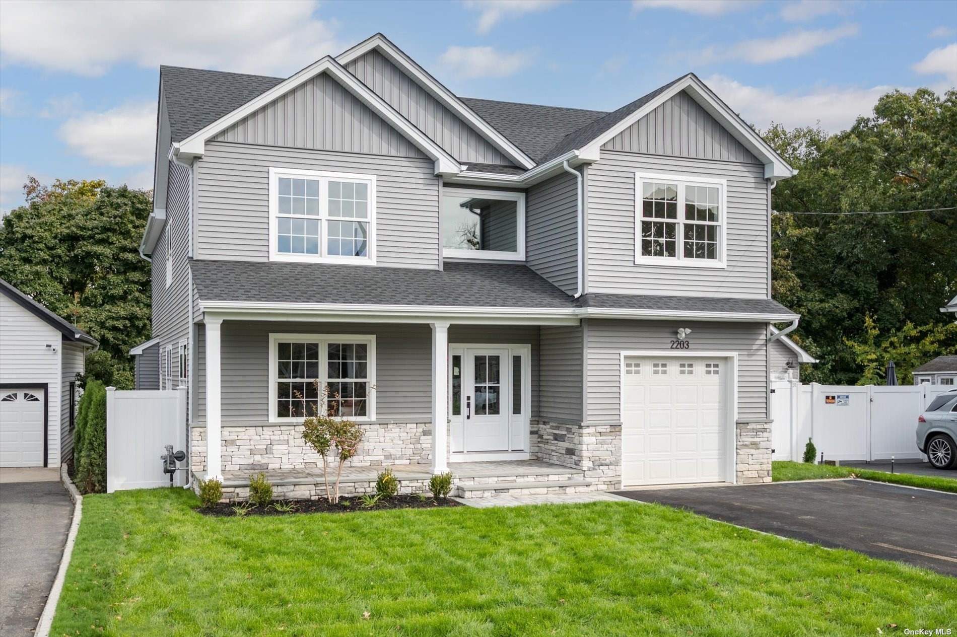
{"type": "Polygon", "coordinates": [[[372,49],[378,49],[379,53],[389,59],[390,62],[414,77],[417,83],[423,87],[429,95],[478,130],[488,142],[492,143],[492,145],[507,155],[513,162],[525,168],[531,168],[535,165],[535,162],[528,157],[521,148],[511,143],[488,122],[482,120],[475,111],[469,108],[461,99],[458,99],[455,94],[442,86],[434,77],[430,76],[429,73],[420,67],[411,57],[389,42],[382,33],[376,33],[366,41],[360,42],[344,53],[337,55],[336,61],[345,66],[355,58],[366,55],[372,49]]]}

